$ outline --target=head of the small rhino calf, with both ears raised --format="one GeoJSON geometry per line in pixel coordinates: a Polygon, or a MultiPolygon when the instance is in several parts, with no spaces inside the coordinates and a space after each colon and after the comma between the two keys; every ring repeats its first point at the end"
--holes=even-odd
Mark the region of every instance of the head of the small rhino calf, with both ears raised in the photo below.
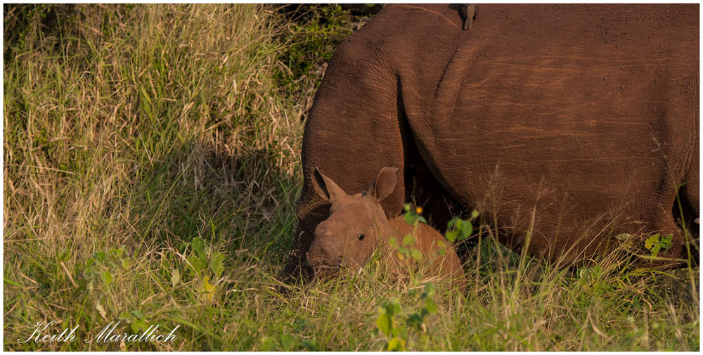
{"type": "Polygon", "coordinates": [[[332,207],[330,216],[315,228],[310,251],[305,254],[316,276],[337,273],[342,266],[359,269],[368,262],[381,238],[391,232],[380,205],[393,192],[398,168],[385,167],[368,191],[347,195],[342,188],[317,168],[312,185],[332,207]]]}

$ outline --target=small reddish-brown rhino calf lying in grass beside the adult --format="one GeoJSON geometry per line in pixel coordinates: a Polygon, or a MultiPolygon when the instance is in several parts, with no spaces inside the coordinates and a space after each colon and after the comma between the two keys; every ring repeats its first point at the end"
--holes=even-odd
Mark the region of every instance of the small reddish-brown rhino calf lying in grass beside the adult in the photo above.
{"type": "Polygon", "coordinates": [[[328,219],[315,228],[313,243],[305,254],[309,266],[318,277],[337,273],[342,266],[360,269],[380,247],[391,263],[389,270],[400,274],[418,264],[412,258],[401,259],[399,253],[392,252],[388,240],[396,238],[401,243],[406,235],[412,234],[415,241],[407,247],[422,252],[427,273],[452,278],[454,286],[465,290],[464,272],[456,252],[446,247],[444,254],[439,253],[448,244],[441,234],[427,224],[413,228],[403,217],[390,221],[386,218],[379,202],[394,190],[397,172],[397,168],[385,167],[368,191],[347,195],[334,181],[313,169],[313,187],[332,207],[328,219]]]}

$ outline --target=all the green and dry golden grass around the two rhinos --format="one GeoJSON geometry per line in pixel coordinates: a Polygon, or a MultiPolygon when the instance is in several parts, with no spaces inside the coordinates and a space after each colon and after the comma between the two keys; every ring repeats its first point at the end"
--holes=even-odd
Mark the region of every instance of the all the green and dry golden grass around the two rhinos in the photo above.
{"type": "Polygon", "coordinates": [[[5,9],[6,350],[699,349],[698,269],[638,270],[623,252],[555,269],[484,238],[465,295],[423,295],[427,280],[392,280],[378,259],[276,292],[300,119],[359,27],[339,8],[297,22],[257,5],[5,9]],[[82,341],[115,320],[180,328],[82,341]],[[20,344],[39,321],[79,339],[20,344]]]}

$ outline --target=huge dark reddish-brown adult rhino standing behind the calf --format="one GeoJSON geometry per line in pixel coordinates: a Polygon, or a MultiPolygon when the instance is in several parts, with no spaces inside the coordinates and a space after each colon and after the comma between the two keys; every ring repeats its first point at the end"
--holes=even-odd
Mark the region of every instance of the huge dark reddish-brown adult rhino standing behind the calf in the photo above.
{"type": "Polygon", "coordinates": [[[314,167],[344,191],[399,167],[382,201],[388,218],[406,198],[434,212],[436,226],[450,217],[445,202],[477,208],[505,245],[520,249],[531,235],[529,253],[552,260],[589,257],[617,243],[613,235],[638,232],[671,233],[659,256],[685,255],[676,196],[690,224],[699,7],[478,10],[464,30],[465,8],[389,5],[337,49],[304,131],[299,225],[281,277],[309,275],[304,254],[330,210],[314,167]]]}

